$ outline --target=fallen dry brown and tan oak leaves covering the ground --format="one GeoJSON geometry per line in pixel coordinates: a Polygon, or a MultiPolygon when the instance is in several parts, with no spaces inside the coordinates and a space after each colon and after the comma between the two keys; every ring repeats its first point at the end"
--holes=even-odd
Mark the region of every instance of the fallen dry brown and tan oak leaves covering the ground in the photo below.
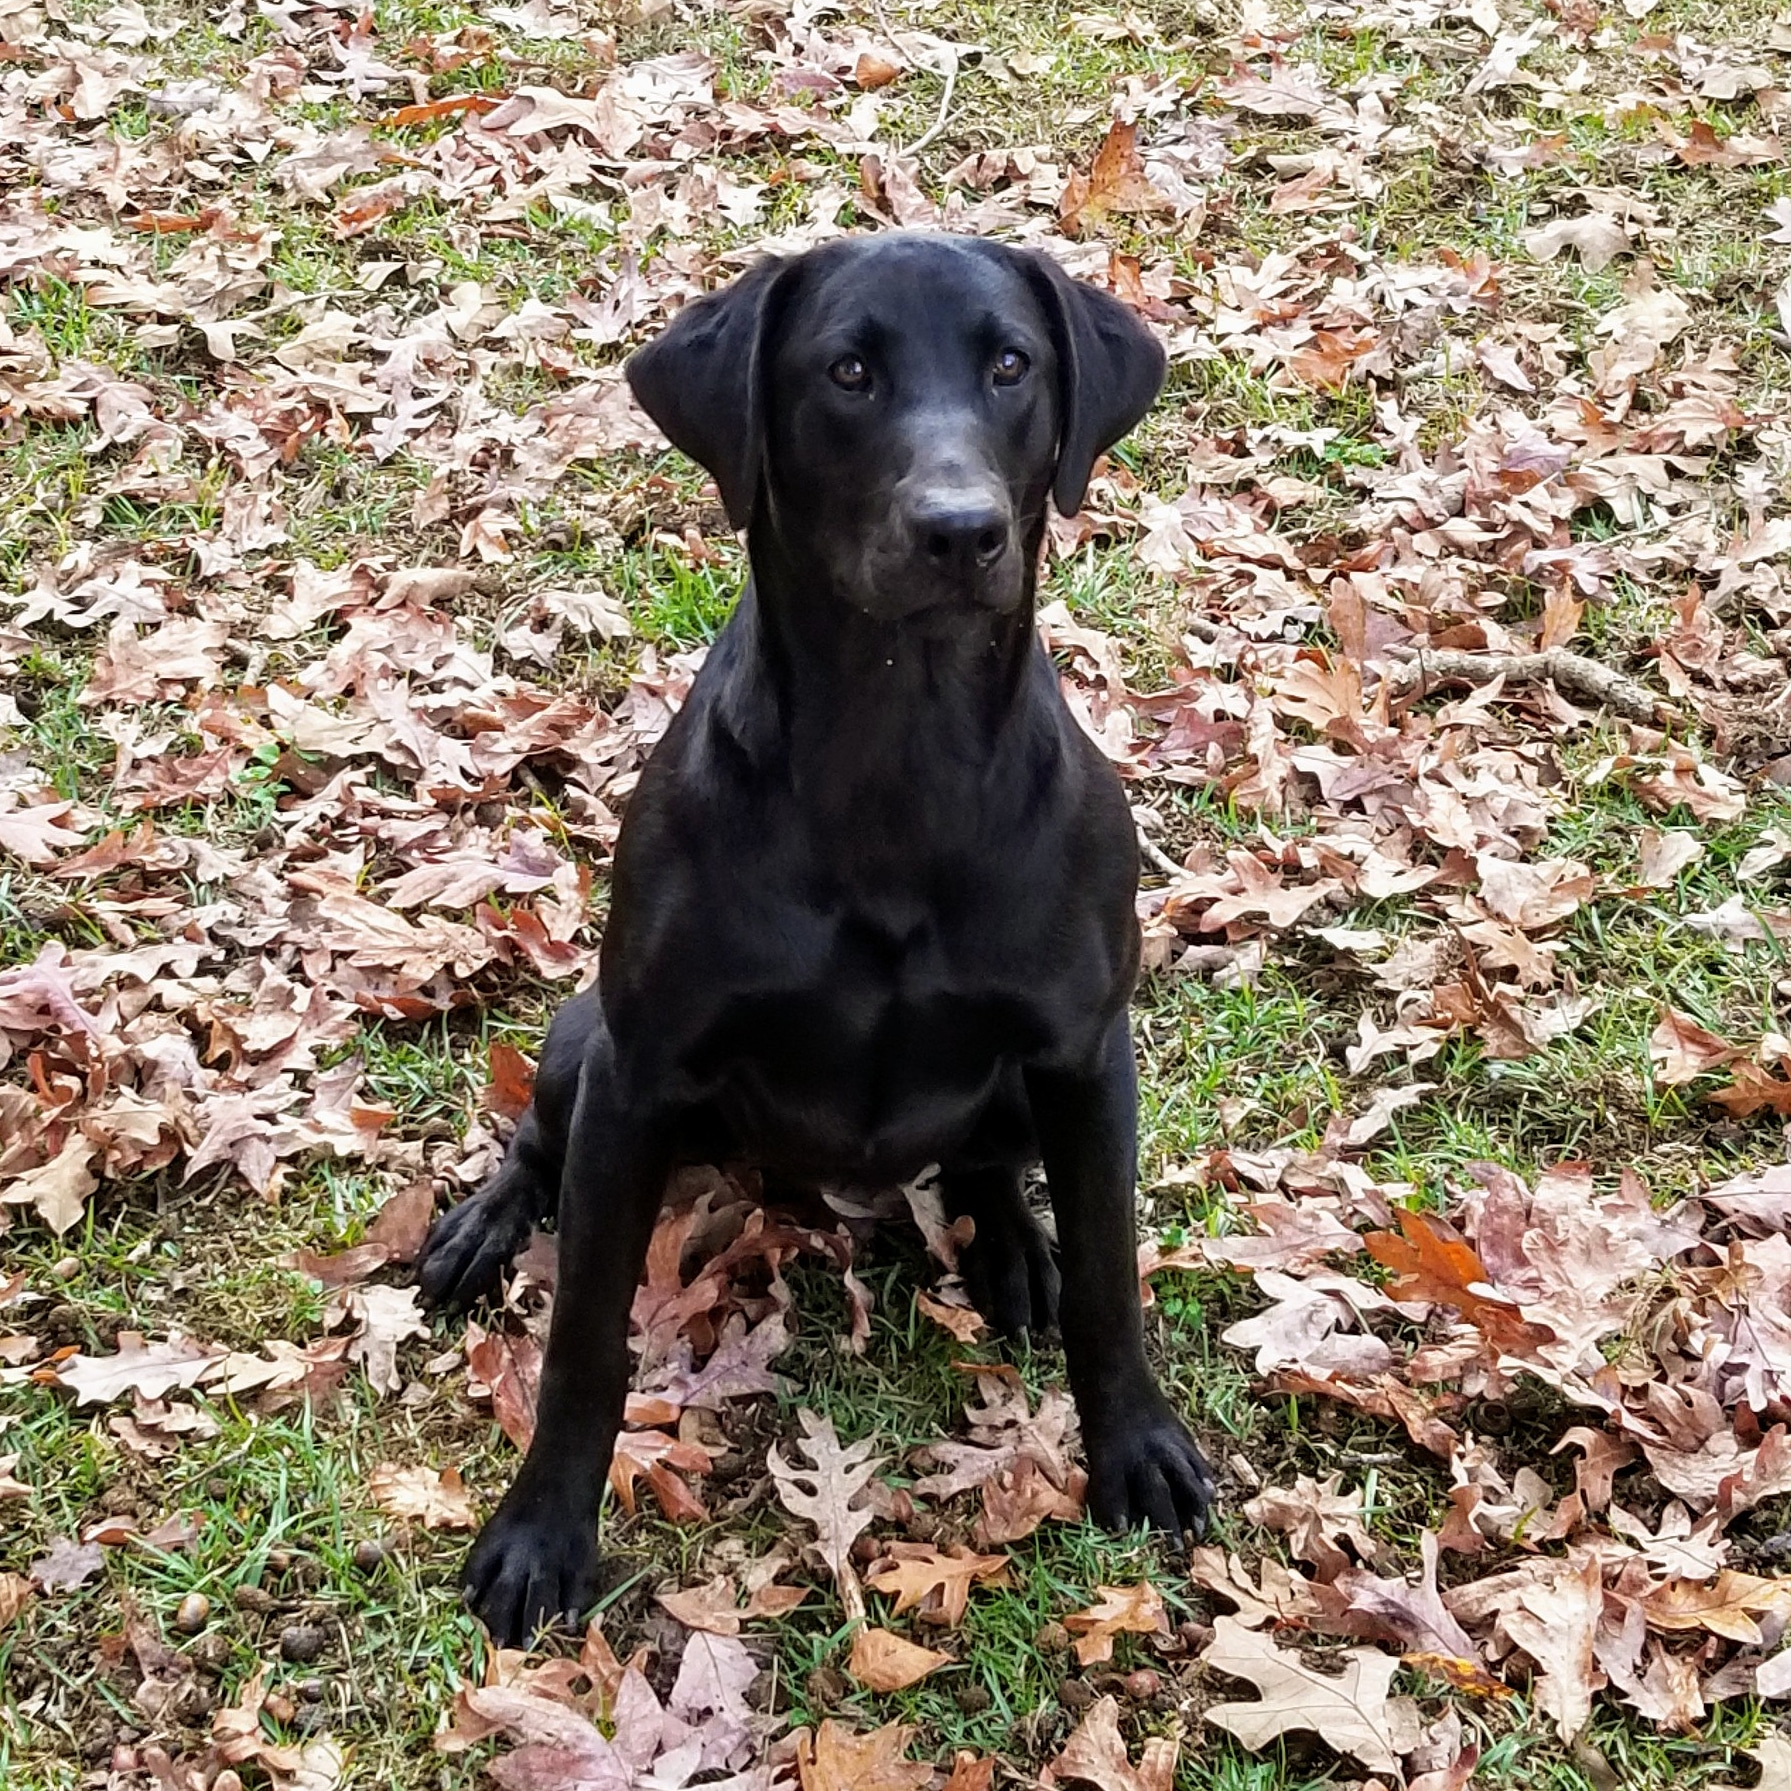
{"type": "MultiPolygon", "coordinates": [[[[1572,9],[1517,21],[1331,0],[1313,16],[1472,43],[1463,86],[1503,99],[1440,111],[1404,77],[1340,81],[1264,18],[1225,39],[1211,79],[1123,77],[1075,143],[949,165],[896,149],[890,120],[933,79],[947,127],[953,84],[999,61],[989,47],[949,41],[944,23],[892,30],[881,13],[740,11],[759,45],[749,88],[704,48],[620,54],[577,7],[550,4],[412,41],[322,7],[260,23],[231,9],[222,36],[240,56],[201,81],[172,79],[179,27],[136,7],[0,9],[0,104],[18,127],[0,278],[14,297],[77,292],[99,321],[86,347],[30,306],[0,326],[9,428],[82,432],[97,475],[57,530],[30,534],[0,593],[0,672],[25,695],[32,657],[56,657],[106,743],[70,793],[34,716],[0,695],[0,867],[32,922],[23,949],[7,935],[0,969],[0,1221],[79,1239],[152,1178],[278,1202],[319,1162],[389,1193],[356,1241],[294,1259],[328,1295],[303,1343],[240,1347],[170,1324],[52,1349],[27,1307],[0,1375],[104,1410],[116,1447],[145,1463],[215,1426],[213,1402],[256,1417],[324,1404],[349,1374],[394,1408],[408,1397],[428,1333],[412,1290],[380,1277],[401,1281],[442,1191],[487,1173],[528,1066],[493,1044],[485,1110],[464,1137],[432,1137],[380,1096],[367,1041],[593,973],[589,899],[618,815],[700,661],[630,648],[641,618],[613,589],[530,577],[537,518],[571,482],[657,476],[643,457],[663,444],[616,378],[620,351],[761,244],[892,222],[1005,235],[1132,303],[1180,376],[1223,369],[1282,405],[1365,401],[1354,462],[1325,458],[1341,433],[1329,424],[1252,416],[1209,432],[1184,417],[1168,473],[1110,462],[1050,541],[1060,568],[1091,546],[1125,555],[1180,614],[1134,672],[1132,639],[1044,609],[1078,720],[1141,811],[1191,792],[1241,822],[1157,849],[1139,899],[1146,964],[1241,987],[1322,962],[1354,1033],[1361,1100],[1318,1148],[1238,1144],[1187,1166],[1184,1186],[1218,1196],[1216,1236],[1146,1245],[1144,1266],[1250,1284],[1257,1304],[1223,1343],[1263,1388],[1367,1415],[1429,1458],[1445,1492],[1402,1565],[1374,1540],[1359,1485],[1257,1488],[1245,1512],[1291,1565],[1207,1547],[1186,1578],[1236,1612],[1216,1617],[1200,1671],[1257,1689],[1205,1719],[1248,1746],[1304,1727],[1365,1771],[1444,1784],[1472,1771],[1474,1743],[1449,1730],[1447,1700],[1420,1723],[1392,1694],[1399,1658],[1469,1710],[1528,1684],[1564,1741],[1599,1698],[1689,1730],[1718,1700],[1786,1696],[1787,1601],[1748,1571],[1766,1560],[1741,1524],[1791,1494],[1782,1162],[1673,1196],[1624,1161],[1526,1177],[1488,1164],[1440,1171],[1418,1200],[1368,1161],[1435,1091],[1420,1066],[1463,1048],[1494,1067],[1547,1062],[1599,1023],[1614,992],[1578,969],[1583,924],[1666,903],[1675,924],[1761,965],[1762,985],[1791,938],[1784,835],[1770,827],[1741,858],[1746,899],[1678,903],[1727,854],[1723,829],[1782,815],[1775,790],[1791,781],[1791,523],[1775,514],[1791,437],[1757,387],[1755,346],[1723,333],[1732,313],[1709,328],[1675,287],[1671,224],[1639,190],[1667,168],[1744,181],[1777,167],[1773,63],[1791,39],[1619,41],[1587,36],[1572,9]],[[586,79],[548,79],[523,43],[578,45],[586,79]],[[462,86],[498,45],[501,86],[462,86]],[[1562,47],[1585,52],[1585,79],[1562,77],[1562,47]],[[1513,95],[1556,120],[1644,118],[1650,133],[1581,179],[1556,140],[1526,134],[1513,95]],[[149,136],[118,111],[138,100],[149,136]],[[1508,260],[1381,253],[1345,227],[1420,150],[1538,177],[1538,222],[1508,260]],[[1243,253],[1232,181],[1261,167],[1279,183],[1270,213],[1302,227],[1243,253]],[[586,279],[527,296],[381,260],[385,233],[432,208],[500,236],[527,238],[539,217],[598,224],[607,247],[586,279]],[[344,290],[288,285],[281,236],[301,220],[367,245],[344,290]],[[1569,263],[1612,281],[1585,328],[1535,303],[1538,270],[1569,263]],[[1435,381],[1470,369],[1485,376],[1474,401],[1435,412],[1435,381]],[[306,480],[322,444],[416,471],[405,544],[365,530],[315,546],[306,480]],[[100,527],[107,505],[184,519],[134,539],[100,527]],[[1607,625],[1635,604],[1651,605],[1646,632],[1607,625]],[[566,677],[578,654],[604,670],[566,677]],[[253,836],[190,829],[193,804],[256,790],[272,801],[253,836]],[[1592,795],[1648,817],[1621,869],[1560,844],[1592,795]],[[1375,1084],[1390,1071],[1408,1080],[1375,1084]],[[1558,1402],[1553,1467],[1478,1422],[1526,1390],[1558,1402]],[[1572,1492],[1556,1490],[1562,1472],[1572,1492]],[[1313,1641],[1350,1646],[1293,1651],[1313,1641]]],[[[1075,30],[1161,41],[1103,14],[1075,30]]],[[[1766,222],[1782,240],[1782,217],[1766,222]]],[[[625,496],[587,525],[620,552],[645,514],[670,561],[733,564],[713,518],[664,500],[650,491],[630,516],[641,500],[625,496]]],[[[1770,1015],[1748,1028],[1675,992],[1635,1073],[1712,1121],[1791,1118],[1791,1044],[1770,1015]]],[[[634,1307],[613,1472],[629,1510],[645,1487],[675,1522],[715,1515],[706,1483],[727,1422],[784,1392],[783,1270],[801,1254],[851,1268],[853,1202],[815,1221],[754,1196],[720,1171],[673,1189],[634,1307]]],[[[944,1266],[924,1309],[973,1347],[976,1315],[944,1266]]],[[[552,1254],[537,1250],[446,1352],[518,1447],[550,1302],[552,1254]]],[[[861,1304],[860,1347],[869,1324],[861,1304]]],[[[919,1684],[955,1657],[869,1624],[863,1587],[937,1635],[978,1587],[1021,1571],[1012,1546],[1080,1519],[1067,1397],[1048,1386],[1033,1401],[999,1363],[964,1367],[962,1429],[903,1463],[917,1470],[904,1485],[879,1438],[842,1442],[811,1413],[765,1460],[824,1596],[867,1619],[851,1644],[865,1685],[919,1684]],[[917,1510],[965,1513],[964,1540],[867,1535],[917,1510]]],[[[455,1467],[383,1463],[367,1492],[399,1522],[473,1521],[455,1467]]],[[[0,1580],[7,1623],[91,1585],[104,1551],[82,1537],[0,1580]]],[[[763,1562],[736,1564],[664,1592],[690,1632],[675,1682],[618,1666],[598,1632],[582,1680],[566,1662],[510,1662],[464,1691],[450,1744],[505,1735],[514,1752],[494,1770],[519,1786],[928,1782],[897,1725],[824,1719],[770,1741],[740,1635],[811,1592],[777,1585],[792,1565],[779,1556],[767,1578],[763,1562]]],[[[1116,1646],[1186,1655],[1152,1581],[1089,1590],[1089,1610],[1064,1612],[1085,1666],[1116,1646]]],[[[184,1684],[152,1628],[122,1633],[145,1684],[184,1684]]],[[[337,1782],[335,1743],[265,1739],[267,1696],[253,1678],[219,1712],[211,1753],[163,1752],[167,1771],[147,1770],[183,1786],[220,1762],[337,1782]]],[[[1782,1771],[1773,1746],[1762,1764],[1782,1771]]],[[[1175,1757],[1162,1735],[1128,1748],[1101,1696],[1046,1773],[1157,1791],[1175,1757]]],[[[953,1780],[981,1791],[969,1780],[985,1786],[989,1764],[960,1761],[953,1780]]]]}

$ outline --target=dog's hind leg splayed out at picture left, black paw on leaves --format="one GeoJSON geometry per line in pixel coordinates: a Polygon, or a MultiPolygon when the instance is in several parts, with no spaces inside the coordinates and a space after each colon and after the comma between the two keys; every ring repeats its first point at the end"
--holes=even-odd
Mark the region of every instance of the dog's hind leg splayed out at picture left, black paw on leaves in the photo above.
{"type": "Polygon", "coordinates": [[[471,1306],[498,1277],[541,1220],[559,1207],[566,1134],[578,1100],[578,1073],[591,1035],[604,1024],[596,989],[573,996],[548,1028],[536,1093],[518,1121],[503,1162],[469,1200],[430,1227],[417,1281],[432,1306],[471,1306]]]}

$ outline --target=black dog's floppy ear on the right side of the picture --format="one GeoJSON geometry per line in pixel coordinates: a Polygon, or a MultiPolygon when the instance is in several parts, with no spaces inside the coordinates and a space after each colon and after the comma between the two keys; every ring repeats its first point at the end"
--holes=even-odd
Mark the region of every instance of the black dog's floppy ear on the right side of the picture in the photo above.
{"type": "Polygon", "coordinates": [[[1032,253],[1039,294],[1051,319],[1062,423],[1051,498],[1075,516],[1094,462],[1150,410],[1162,389],[1164,353],[1119,299],[1071,279],[1048,254],[1032,253]]]}

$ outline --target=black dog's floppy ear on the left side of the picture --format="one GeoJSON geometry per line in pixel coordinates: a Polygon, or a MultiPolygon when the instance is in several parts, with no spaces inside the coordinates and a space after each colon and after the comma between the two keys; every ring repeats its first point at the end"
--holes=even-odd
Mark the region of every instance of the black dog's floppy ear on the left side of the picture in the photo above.
{"type": "Polygon", "coordinates": [[[641,410],[715,478],[734,528],[752,521],[759,493],[767,335],[788,267],[781,258],[756,261],[720,292],[686,304],[625,369],[641,410]]]}

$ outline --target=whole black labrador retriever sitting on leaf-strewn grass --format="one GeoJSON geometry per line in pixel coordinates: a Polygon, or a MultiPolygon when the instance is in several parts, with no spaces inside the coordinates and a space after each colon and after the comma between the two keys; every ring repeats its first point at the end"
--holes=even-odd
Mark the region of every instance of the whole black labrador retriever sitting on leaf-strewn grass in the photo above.
{"type": "Polygon", "coordinates": [[[937,1162],[978,1307],[1062,1324],[1096,1519],[1202,1526],[1137,1293],[1137,844],[1033,629],[1046,498],[1080,507],[1162,367],[1046,256],[901,233],[761,261],[629,362],[752,577],[629,802],[598,985],[424,1247],[423,1291],[467,1302],[559,1213],[534,1445],[464,1576],[500,1642],[595,1598],[679,1161],[860,1186],[937,1162]],[[1041,1159],[1055,1255],[1021,1191],[1041,1159]]]}

